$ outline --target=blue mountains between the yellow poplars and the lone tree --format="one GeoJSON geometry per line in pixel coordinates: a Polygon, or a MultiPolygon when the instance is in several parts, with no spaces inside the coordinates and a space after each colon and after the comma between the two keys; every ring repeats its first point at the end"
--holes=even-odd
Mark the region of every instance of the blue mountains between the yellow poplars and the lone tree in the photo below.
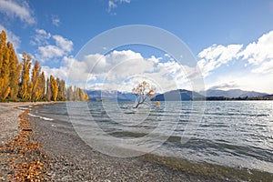
{"type": "Polygon", "coordinates": [[[136,96],[131,93],[123,93],[119,91],[103,91],[103,90],[86,90],[86,94],[90,100],[118,100],[118,101],[135,101],[136,96]]]}

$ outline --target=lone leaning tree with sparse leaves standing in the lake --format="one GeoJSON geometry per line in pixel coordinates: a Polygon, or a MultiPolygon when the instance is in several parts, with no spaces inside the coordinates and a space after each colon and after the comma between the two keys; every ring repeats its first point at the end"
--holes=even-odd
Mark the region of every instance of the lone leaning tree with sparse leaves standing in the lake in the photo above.
{"type": "Polygon", "coordinates": [[[136,106],[134,108],[137,108],[139,105],[144,104],[148,101],[148,99],[153,98],[156,90],[157,88],[155,86],[151,86],[146,81],[143,81],[142,83],[138,84],[138,86],[133,88],[132,93],[137,96],[136,106]]]}

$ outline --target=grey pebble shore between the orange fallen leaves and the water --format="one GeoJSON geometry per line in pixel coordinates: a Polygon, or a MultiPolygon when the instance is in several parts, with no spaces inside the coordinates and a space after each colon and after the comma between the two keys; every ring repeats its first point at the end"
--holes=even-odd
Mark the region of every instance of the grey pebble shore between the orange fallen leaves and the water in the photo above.
{"type": "MultiPolygon", "coordinates": [[[[57,103],[17,103],[15,105],[8,103],[5,107],[18,111],[17,114],[22,114],[25,111],[15,109],[15,107],[34,106],[34,104],[57,103]]],[[[2,108],[1,106],[3,107],[2,104],[0,104],[0,108],[2,108]]],[[[9,115],[9,113],[4,115],[9,115]]],[[[87,146],[76,135],[76,132],[68,134],[53,127],[50,121],[33,116],[24,117],[30,123],[32,141],[41,144],[37,151],[39,154],[45,155],[45,158],[41,158],[38,153],[35,153],[35,157],[38,157],[39,161],[43,161],[47,170],[45,177],[48,177],[48,180],[51,180],[52,177],[52,180],[55,181],[238,181],[248,180],[248,178],[240,177],[246,174],[249,174],[250,181],[258,179],[272,181],[273,179],[273,174],[271,176],[269,174],[268,178],[254,178],[263,172],[253,173],[251,170],[244,171],[237,168],[195,164],[187,160],[178,162],[170,157],[158,157],[150,154],[131,158],[109,157],[87,146]],[[233,171],[228,171],[230,169],[233,171]],[[243,172],[235,173],[234,170],[243,172]],[[225,171],[228,175],[225,174],[225,171]],[[222,174],[217,175],[217,172],[222,174]],[[232,177],[232,173],[236,177],[232,177]]],[[[18,116],[16,118],[19,120],[18,116]]],[[[2,155],[0,159],[1,157],[2,155]]],[[[0,181],[1,179],[3,178],[1,178],[0,172],[0,181]]]]}

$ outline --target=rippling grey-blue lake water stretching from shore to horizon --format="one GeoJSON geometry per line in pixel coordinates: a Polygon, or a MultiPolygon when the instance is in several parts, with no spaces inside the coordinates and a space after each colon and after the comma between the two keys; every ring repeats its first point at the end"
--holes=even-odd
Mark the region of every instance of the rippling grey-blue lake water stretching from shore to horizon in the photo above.
{"type": "MultiPolygon", "coordinates": [[[[71,122],[86,143],[106,155],[152,153],[273,173],[273,102],[76,102],[35,109],[52,126],[71,122]]],[[[71,124],[70,124],[71,125],[71,124]]]]}

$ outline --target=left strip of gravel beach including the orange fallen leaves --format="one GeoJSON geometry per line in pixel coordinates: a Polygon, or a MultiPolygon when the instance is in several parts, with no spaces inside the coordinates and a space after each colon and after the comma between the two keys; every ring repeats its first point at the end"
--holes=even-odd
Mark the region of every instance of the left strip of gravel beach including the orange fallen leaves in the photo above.
{"type": "Polygon", "coordinates": [[[25,116],[31,106],[54,102],[0,103],[0,181],[47,180],[45,156],[25,116]],[[20,108],[22,107],[22,108],[20,108]]]}

